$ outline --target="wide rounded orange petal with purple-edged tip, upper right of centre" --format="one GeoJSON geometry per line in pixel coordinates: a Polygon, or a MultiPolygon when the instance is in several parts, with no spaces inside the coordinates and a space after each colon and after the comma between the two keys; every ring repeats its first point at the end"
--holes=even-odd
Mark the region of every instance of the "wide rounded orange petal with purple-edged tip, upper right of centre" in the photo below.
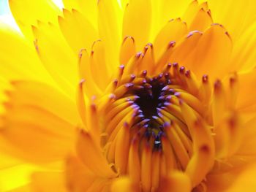
{"type": "Polygon", "coordinates": [[[213,79],[223,77],[229,70],[226,63],[230,59],[232,47],[225,29],[213,24],[203,33],[186,65],[200,77],[203,74],[208,74],[213,79]]]}

